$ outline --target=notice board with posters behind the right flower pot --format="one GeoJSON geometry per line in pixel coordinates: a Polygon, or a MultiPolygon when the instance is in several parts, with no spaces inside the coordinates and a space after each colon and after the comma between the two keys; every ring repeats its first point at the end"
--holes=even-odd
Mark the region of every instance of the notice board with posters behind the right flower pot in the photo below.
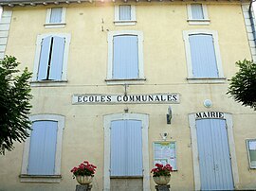
{"type": "Polygon", "coordinates": [[[153,148],[154,166],[155,164],[170,164],[173,167],[173,170],[177,170],[175,142],[154,142],[153,148]]]}

